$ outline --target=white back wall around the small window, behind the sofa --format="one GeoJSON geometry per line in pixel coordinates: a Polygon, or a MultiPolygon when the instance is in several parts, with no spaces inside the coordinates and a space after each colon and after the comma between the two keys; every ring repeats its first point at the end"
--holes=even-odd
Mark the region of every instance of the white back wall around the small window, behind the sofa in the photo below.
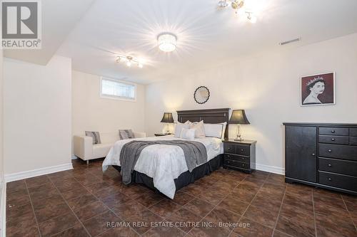
{"type": "Polygon", "coordinates": [[[101,98],[100,83],[99,75],[72,71],[72,135],[119,129],[144,132],[144,85],[136,85],[136,101],[131,102],[101,98]]]}

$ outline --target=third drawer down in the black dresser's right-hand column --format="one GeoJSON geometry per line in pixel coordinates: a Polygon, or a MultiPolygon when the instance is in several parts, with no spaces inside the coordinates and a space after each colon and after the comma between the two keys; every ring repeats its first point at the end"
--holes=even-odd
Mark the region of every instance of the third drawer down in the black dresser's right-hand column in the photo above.
{"type": "Polygon", "coordinates": [[[318,144],[320,157],[357,160],[357,147],[340,144],[318,144]]]}

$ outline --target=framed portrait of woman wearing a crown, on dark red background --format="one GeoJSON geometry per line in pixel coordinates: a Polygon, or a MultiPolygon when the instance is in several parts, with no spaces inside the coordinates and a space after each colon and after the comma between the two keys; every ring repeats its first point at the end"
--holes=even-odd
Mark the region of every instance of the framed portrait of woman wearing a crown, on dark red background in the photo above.
{"type": "Polygon", "coordinates": [[[335,72],[301,77],[301,106],[335,105],[335,72]]]}

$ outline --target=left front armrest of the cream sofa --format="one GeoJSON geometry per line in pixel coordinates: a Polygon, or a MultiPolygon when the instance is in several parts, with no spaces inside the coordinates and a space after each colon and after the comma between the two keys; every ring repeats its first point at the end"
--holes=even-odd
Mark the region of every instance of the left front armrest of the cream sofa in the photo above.
{"type": "Polygon", "coordinates": [[[93,157],[93,138],[86,136],[74,136],[74,155],[87,160],[93,157]]]}

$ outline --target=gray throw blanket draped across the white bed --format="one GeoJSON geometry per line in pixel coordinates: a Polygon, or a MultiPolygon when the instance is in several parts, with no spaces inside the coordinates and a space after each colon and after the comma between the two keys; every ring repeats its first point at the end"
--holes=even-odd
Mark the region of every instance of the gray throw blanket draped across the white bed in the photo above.
{"type": "Polygon", "coordinates": [[[121,148],[120,164],[121,176],[124,184],[131,183],[131,173],[134,171],[136,162],[141,151],[154,144],[167,144],[181,147],[185,155],[188,171],[192,172],[196,166],[207,162],[207,150],[201,142],[169,140],[169,141],[131,141],[121,148]]]}

